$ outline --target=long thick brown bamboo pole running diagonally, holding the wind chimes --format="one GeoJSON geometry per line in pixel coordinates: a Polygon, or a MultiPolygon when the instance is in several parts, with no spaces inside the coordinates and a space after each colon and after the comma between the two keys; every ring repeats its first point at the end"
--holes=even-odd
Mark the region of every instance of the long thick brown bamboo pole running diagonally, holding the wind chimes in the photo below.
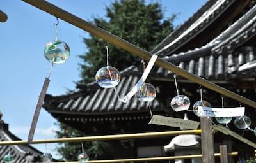
{"type": "MultiPolygon", "coordinates": [[[[104,29],[100,29],[99,27],[86,22],[85,20],[79,17],[76,17],[75,15],[72,15],[71,13],[68,13],[65,10],[62,10],[61,8],[58,8],[57,6],[54,6],[53,4],[48,3],[47,1],[44,1],[44,0],[36,0],[36,1],[22,0],[22,1],[29,3],[32,6],[35,6],[36,8],[39,8],[40,10],[43,10],[51,15],[54,15],[55,17],[61,18],[65,22],[75,25],[76,27],[79,27],[84,31],[90,32],[90,34],[93,34],[99,38],[102,38],[108,41],[109,43],[112,43],[113,45],[119,46],[120,48],[123,48],[124,50],[127,50],[128,52],[131,52],[132,54],[137,55],[138,57],[141,57],[145,60],[150,60],[150,57],[152,56],[152,54],[147,52],[146,50],[143,50],[138,46],[132,45],[132,43],[129,43],[128,41],[125,41],[124,39],[119,38],[118,36],[115,36],[114,34],[111,34],[108,31],[104,31],[104,29]]],[[[172,71],[175,74],[179,74],[180,76],[190,81],[198,83],[199,85],[202,85],[208,89],[214,90],[215,92],[218,92],[223,96],[230,97],[231,99],[239,101],[240,103],[247,104],[248,106],[252,106],[253,108],[256,108],[256,103],[254,101],[247,99],[243,96],[239,96],[238,94],[230,90],[220,87],[212,83],[211,81],[205,80],[204,78],[200,78],[195,74],[189,73],[184,69],[180,69],[180,67],[175,66],[174,64],[167,62],[166,60],[161,59],[160,57],[157,58],[156,64],[160,67],[163,67],[164,69],[168,69],[172,71]]]]}

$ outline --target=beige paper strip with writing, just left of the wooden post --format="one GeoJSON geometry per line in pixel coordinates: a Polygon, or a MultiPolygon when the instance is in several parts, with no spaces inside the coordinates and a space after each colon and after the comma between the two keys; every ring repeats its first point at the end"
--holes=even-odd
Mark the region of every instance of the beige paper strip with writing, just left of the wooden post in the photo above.
{"type": "Polygon", "coordinates": [[[184,129],[197,129],[200,122],[193,120],[184,120],[180,118],[165,117],[162,115],[153,115],[148,124],[167,125],[172,127],[180,127],[184,129]]]}

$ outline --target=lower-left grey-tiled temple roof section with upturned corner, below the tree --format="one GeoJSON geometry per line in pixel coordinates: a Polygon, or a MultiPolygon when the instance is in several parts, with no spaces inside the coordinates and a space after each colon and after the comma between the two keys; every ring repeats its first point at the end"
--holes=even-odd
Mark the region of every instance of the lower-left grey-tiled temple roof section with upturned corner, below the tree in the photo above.
{"type": "MultiPolygon", "coordinates": [[[[132,111],[148,112],[148,103],[137,100],[132,96],[127,103],[118,100],[124,97],[140,79],[143,72],[139,71],[136,66],[131,66],[121,72],[122,80],[115,89],[104,89],[99,87],[97,82],[86,85],[79,85],[81,89],[78,92],[70,92],[65,96],[51,96],[47,94],[44,107],[51,113],[79,113],[93,115],[95,113],[118,114],[129,113],[132,111]],[[54,99],[54,100],[52,100],[54,99]],[[52,110],[54,108],[54,110],[52,110]]],[[[154,100],[150,104],[152,110],[163,110],[163,105],[154,100]]]]}

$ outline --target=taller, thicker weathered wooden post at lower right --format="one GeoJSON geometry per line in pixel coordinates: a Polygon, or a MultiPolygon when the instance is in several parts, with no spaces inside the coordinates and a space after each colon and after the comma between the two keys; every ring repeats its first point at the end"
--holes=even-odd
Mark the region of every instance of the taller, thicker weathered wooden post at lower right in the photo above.
{"type": "Polygon", "coordinates": [[[214,143],[212,134],[212,122],[208,117],[200,117],[202,162],[214,163],[214,143]]]}

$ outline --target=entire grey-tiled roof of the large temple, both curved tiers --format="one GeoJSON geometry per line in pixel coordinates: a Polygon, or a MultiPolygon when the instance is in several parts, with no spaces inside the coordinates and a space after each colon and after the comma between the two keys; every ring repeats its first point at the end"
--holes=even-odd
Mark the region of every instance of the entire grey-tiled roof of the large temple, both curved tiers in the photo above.
{"type": "MultiPolygon", "coordinates": [[[[214,83],[250,81],[255,78],[255,13],[255,1],[209,0],[151,53],[214,83]]],[[[131,90],[141,74],[136,65],[122,71],[121,82],[116,87],[120,97],[131,90]]],[[[171,71],[154,66],[148,80],[173,81],[172,77],[171,71]]],[[[189,83],[188,80],[182,82],[189,83]]],[[[114,89],[102,89],[95,82],[77,87],[78,91],[64,96],[47,94],[45,110],[56,118],[60,115],[113,115],[148,111],[147,103],[132,97],[124,104],[118,101],[114,89]]],[[[152,103],[152,110],[168,112],[156,99],[152,103]]]]}

